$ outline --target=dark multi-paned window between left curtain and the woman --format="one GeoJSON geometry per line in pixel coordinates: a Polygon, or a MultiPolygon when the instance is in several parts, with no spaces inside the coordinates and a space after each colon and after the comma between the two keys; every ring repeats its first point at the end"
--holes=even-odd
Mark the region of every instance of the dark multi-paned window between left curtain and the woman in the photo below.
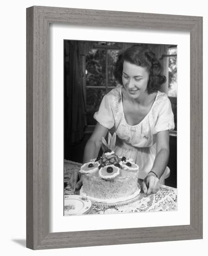
{"type": "Polygon", "coordinates": [[[101,100],[117,84],[114,67],[120,51],[115,43],[98,42],[85,56],[85,106],[88,128],[96,125],[93,115],[98,111],[101,100]]]}

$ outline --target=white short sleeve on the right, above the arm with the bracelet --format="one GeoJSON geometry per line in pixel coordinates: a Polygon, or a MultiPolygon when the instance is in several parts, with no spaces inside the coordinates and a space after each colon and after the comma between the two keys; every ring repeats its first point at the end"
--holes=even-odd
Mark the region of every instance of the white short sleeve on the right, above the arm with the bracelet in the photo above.
{"type": "MultiPolygon", "coordinates": [[[[166,94],[165,94],[166,95],[166,94]]],[[[165,130],[173,130],[175,128],[174,115],[168,96],[163,96],[158,105],[158,117],[153,130],[153,134],[165,130]]]]}

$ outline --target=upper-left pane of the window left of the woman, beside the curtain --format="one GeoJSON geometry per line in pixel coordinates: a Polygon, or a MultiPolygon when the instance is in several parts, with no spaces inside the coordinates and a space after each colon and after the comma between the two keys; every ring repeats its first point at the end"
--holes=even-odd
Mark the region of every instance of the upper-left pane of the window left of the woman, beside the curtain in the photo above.
{"type": "Polygon", "coordinates": [[[86,55],[86,85],[106,86],[106,51],[92,49],[86,55]]]}

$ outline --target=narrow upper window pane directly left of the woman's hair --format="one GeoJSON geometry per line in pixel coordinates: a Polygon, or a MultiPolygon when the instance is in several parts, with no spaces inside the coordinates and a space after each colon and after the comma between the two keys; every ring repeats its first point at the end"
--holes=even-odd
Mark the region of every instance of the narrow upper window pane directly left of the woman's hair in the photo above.
{"type": "Polygon", "coordinates": [[[114,69],[115,63],[118,58],[119,50],[108,50],[107,51],[107,75],[108,75],[108,83],[107,86],[116,86],[115,77],[114,77],[114,69]]]}

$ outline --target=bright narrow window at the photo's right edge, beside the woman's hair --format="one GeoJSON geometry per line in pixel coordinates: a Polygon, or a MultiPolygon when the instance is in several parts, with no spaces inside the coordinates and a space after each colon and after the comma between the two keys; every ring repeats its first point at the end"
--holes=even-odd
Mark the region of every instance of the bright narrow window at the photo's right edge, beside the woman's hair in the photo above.
{"type": "MultiPolygon", "coordinates": [[[[171,48],[168,50],[168,54],[176,55],[177,49],[171,48]]],[[[170,56],[168,58],[168,96],[177,97],[177,56],[170,56]]]]}

